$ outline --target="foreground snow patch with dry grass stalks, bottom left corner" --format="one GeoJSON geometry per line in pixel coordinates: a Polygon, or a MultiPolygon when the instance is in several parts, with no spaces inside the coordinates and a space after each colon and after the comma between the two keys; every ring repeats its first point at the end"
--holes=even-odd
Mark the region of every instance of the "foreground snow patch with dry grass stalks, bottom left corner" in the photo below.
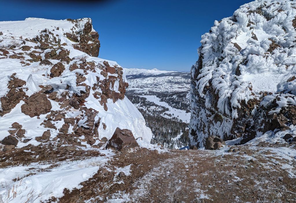
{"type": "MultiPolygon", "coordinates": [[[[39,163],[31,163],[28,166],[15,166],[0,169],[0,182],[5,184],[5,187],[0,187],[0,200],[13,196],[12,188],[17,186],[17,195],[11,198],[11,202],[25,202],[32,192],[33,198],[28,203],[35,203],[50,199],[52,196],[63,196],[64,188],[70,191],[73,188],[81,188],[79,183],[91,178],[100,167],[104,166],[106,162],[114,156],[112,152],[102,150],[100,151],[106,156],[92,157],[79,161],[64,161],[57,162],[58,166],[47,169],[50,165],[41,165],[39,163]],[[24,177],[29,173],[29,168],[36,174],[24,177]],[[23,178],[22,178],[23,177],[23,178]],[[18,181],[11,180],[18,178],[18,181]]],[[[8,201],[8,202],[9,202],[8,201]]]]}

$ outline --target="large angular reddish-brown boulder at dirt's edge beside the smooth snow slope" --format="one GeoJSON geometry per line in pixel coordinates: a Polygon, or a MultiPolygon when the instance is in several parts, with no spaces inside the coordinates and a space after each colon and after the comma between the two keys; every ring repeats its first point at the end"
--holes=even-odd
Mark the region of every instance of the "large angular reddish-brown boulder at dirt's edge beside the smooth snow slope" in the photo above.
{"type": "Polygon", "coordinates": [[[112,138],[107,143],[107,149],[114,148],[119,151],[138,146],[133,133],[128,129],[121,130],[120,128],[116,128],[112,138]]]}

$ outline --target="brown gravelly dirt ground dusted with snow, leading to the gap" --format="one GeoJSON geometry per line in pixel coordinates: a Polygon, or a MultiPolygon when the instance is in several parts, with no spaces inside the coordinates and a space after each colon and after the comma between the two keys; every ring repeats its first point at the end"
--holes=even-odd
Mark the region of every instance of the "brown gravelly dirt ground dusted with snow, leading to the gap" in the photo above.
{"type": "Polygon", "coordinates": [[[81,189],[48,202],[296,202],[295,145],[232,148],[118,152],[81,189]]]}

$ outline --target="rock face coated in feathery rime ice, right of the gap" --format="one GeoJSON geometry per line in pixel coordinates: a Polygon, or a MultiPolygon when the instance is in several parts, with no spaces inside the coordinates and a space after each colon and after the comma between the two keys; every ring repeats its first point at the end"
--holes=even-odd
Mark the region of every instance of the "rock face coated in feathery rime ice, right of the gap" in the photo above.
{"type": "Polygon", "coordinates": [[[209,136],[244,144],[296,123],[296,10],[279,2],[244,4],[202,36],[191,70],[192,144],[209,136]]]}

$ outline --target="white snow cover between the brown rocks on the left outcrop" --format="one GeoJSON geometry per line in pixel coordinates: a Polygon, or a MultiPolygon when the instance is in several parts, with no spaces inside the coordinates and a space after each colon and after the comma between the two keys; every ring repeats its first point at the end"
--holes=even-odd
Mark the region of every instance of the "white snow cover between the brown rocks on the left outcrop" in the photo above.
{"type": "MultiPolygon", "coordinates": [[[[12,41],[17,43],[22,43],[22,39],[29,38],[33,39],[36,36],[40,35],[41,30],[44,30],[45,28],[51,30],[54,29],[54,31],[51,31],[54,33],[54,35],[58,35],[60,41],[60,44],[67,43],[66,46],[62,46],[64,49],[67,49],[70,51],[70,58],[75,58],[73,61],[70,62],[70,64],[65,64],[65,70],[62,73],[60,77],[54,77],[49,79],[49,77],[43,76],[43,74],[47,75],[50,74],[49,70],[52,66],[50,65],[39,65],[39,62],[33,62],[28,66],[23,66],[20,64],[20,59],[11,59],[11,58],[5,58],[0,59],[0,71],[1,71],[1,77],[0,77],[0,97],[7,94],[9,89],[7,88],[7,83],[9,81],[9,77],[16,73],[15,77],[25,80],[26,85],[25,87],[28,88],[27,91],[25,91],[26,95],[30,96],[34,92],[38,92],[41,88],[39,85],[51,85],[54,87],[54,91],[58,91],[59,94],[61,94],[63,91],[65,91],[67,85],[71,87],[69,90],[69,94],[80,94],[80,91],[85,91],[84,86],[77,86],[76,85],[76,75],[75,73],[80,73],[84,77],[86,77],[86,81],[83,83],[86,83],[88,86],[92,87],[94,83],[96,82],[96,77],[102,78],[103,76],[100,74],[101,70],[96,69],[96,72],[88,71],[88,74],[84,74],[82,70],[76,69],[73,71],[69,70],[69,67],[71,64],[73,64],[75,61],[78,61],[80,58],[84,57],[87,61],[94,62],[96,65],[102,64],[103,61],[107,61],[110,66],[117,65],[120,67],[116,62],[109,61],[105,59],[100,59],[97,57],[91,57],[88,54],[79,51],[77,49],[73,48],[73,45],[75,42],[69,40],[64,36],[64,33],[72,33],[71,28],[75,27],[76,31],[82,30],[84,28],[84,24],[89,21],[90,19],[85,18],[81,19],[77,25],[74,25],[73,22],[70,22],[68,20],[47,20],[47,19],[41,19],[41,18],[27,18],[24,21],[8,21],[8,22],[0,22],[0,30],[3,32],[3,35],[0,36],[0,46],[6,47],[8,45],[11,45],[12,41]],[[56,28],[59,28],[58,30],[56,28]],[[11,38],[11,37],[14,38],[11,38]],[[19,38],[22,36],[22,39],[19,38]]],[[[94,29],[92,29],[94,31],[94,29]]],[[[79,36],[78,36],[79,38],[79,36]]],[[[19,45],[19,46],[36,46],[35,43],[25,41],[25,44],[19,45]]],[[[17,48],[16,48],[17,49],[17,48]]],[[[32,51],[31,49],[30,51],[32,51]]],[[[38,49],[37,49],[38,50],[38,49]]],[[[16,50],[15,52],[24,52],[22,50],[16,50]]],[[[26,59],[31,59],[27,55],[23,55],[26,59]]],[[[50,60],[53,64],[59,62],[58,60],[50,60]]],[[[116,74],[110,74],[108,75],[116,75],[116,74]]],[[[123,80],[126,81],[125,74],[123,73],[123,80]]],[[[141,113],[136,109],[136,107],[131,104],[131,102],[125,97],[123,100],[118,100],[117,102],[113,103],[111,99],[107,99],[107,107],[108,110],[105,111],[103,106],[99,104],[98,99],[95,99],[93,96],[93,90],[90,90],[89,97],[86,98],[85,105],[88,108],[93,108],[97,110],[99,113],[96,116],[96,121],[98,119],[101,119],[101,122],[105,123],[107,128],[104,130],[103,126],[99,126],[99,138],[107,137],[108,139],[111,138],[112,134],[114,133],[115,129],[117,127],[119,128],[126,128],[130,129],[133,132],[133,135],[137,137],[142,137],[144,141],[150,142],[152,138],[152,133],[149,128],[146,127],[145,120],[141,113]]],[[[114,85],[114,91],[118,92],[118,82],[115,82],[114,85]]],[[[49,99],[50,100],[50,99],[49,99]]],[[[52,104],[52,110],[60,110],[60,107],[57,102],[50,100],[52,104]]],[[[9,127],[11,127],[11,124],[13,122],[18,122],[20,125],[22,125],[23,129],[26,130],[25,138],[34,138],[36,136],[41,136],[44,131],[46,131],[49,128],[44,128],[43,125],[40,125],[47,114],[40,115],[40,119],[37,119],[37,117],[30,117],[28,115],[25,115],[21,112],[21,105],[24,104],[23,101],[20,101],[17,106],[12,109],[12,111],[3,117],[0,117],[0,140],[2,140],[4,137],[8,136],[8,130],[10,130],[9,127]]],[[[1,107],[1,106],[0,106],[1,107]]],[[[80,111],[77,109],[70,109],[66,115],[66,117],[75,117],[80,114],[80,111]]],[[[63,121],[55,123],[56,127],[59,129],[64,124],[63,121]]],[[[73,127],[73,126],[72,126],[73,127]]],[[[71,127],[70,127],[71,128],[71,127]]],[[[58,133],[57,130],[50,129],[51,130],[51,136],[55,137],[58,133]]],[[[28,144],[34,144],[37,145],[38,142],[32,139],[26,144],[20,143],[18,144],[18,147],[22,147],[24,145],[28,144]]]]}

